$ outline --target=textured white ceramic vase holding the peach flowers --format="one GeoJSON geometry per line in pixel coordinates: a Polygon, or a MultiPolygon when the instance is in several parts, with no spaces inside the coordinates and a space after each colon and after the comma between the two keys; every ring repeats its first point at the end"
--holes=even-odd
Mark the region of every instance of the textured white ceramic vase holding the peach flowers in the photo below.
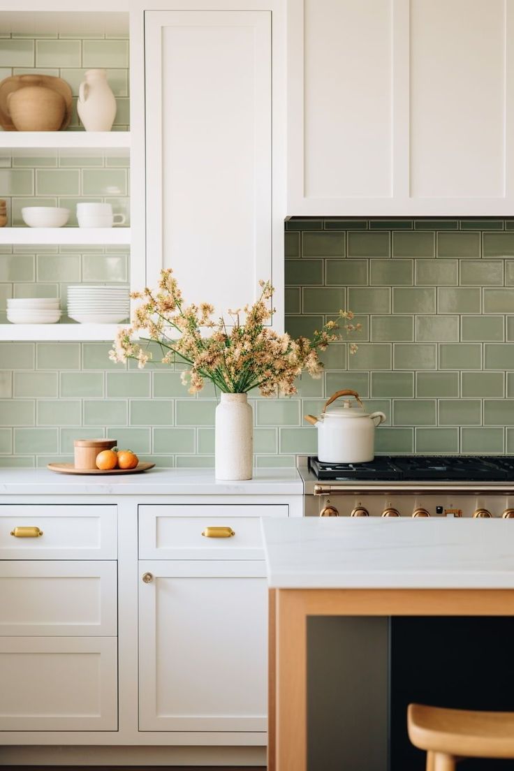
{"type": "Polygon", "coordinates": [[[215,469],[218,480],[250,480],[254,416],[246,393],[222,393],[216,408],[215,469]]]}

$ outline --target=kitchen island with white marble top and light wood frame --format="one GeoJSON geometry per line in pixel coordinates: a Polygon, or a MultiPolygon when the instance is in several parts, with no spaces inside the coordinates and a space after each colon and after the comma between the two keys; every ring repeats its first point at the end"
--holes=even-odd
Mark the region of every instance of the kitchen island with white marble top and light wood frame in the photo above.
{"type": "Polygon", "coordinates": [[[307,769],[309,618],[514,615],[509,520],[307,518],[263,520],[262,527],[270,771],[307,769]]]}

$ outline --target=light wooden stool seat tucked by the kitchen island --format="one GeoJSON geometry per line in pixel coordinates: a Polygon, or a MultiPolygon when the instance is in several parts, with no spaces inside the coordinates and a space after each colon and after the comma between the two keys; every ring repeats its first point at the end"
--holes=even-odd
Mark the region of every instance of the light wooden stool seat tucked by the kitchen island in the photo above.
{"type": "Polygon", "coordinates": [[[428,769],[450,771],[459,758],[514,758],[514,712],[409,704],[407,726],[412,744],[428,752],[428,769]]]}

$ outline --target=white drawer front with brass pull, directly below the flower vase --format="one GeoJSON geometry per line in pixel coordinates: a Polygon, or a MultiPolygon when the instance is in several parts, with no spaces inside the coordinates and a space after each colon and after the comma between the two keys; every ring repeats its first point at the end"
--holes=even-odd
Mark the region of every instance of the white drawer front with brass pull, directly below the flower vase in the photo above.
{"type": "Polygon", "coordinates": [[[262,559],[260,517],[287,517],[287,504],[139,506],[139,557],[146,560],[262,559]],[[220,528],[229,537],[220,536],[220,528]]]}

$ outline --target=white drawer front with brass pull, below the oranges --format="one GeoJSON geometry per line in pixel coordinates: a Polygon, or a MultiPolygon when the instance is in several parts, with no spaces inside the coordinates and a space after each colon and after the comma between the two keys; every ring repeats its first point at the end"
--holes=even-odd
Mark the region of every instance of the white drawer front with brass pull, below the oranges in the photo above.
{"type": "Polygon", "coordinates": [[[116,506],[2,503],[0,559],[115,560],[116,506]],[[42,535],[12,535],[24,527],[42,535]]]}

